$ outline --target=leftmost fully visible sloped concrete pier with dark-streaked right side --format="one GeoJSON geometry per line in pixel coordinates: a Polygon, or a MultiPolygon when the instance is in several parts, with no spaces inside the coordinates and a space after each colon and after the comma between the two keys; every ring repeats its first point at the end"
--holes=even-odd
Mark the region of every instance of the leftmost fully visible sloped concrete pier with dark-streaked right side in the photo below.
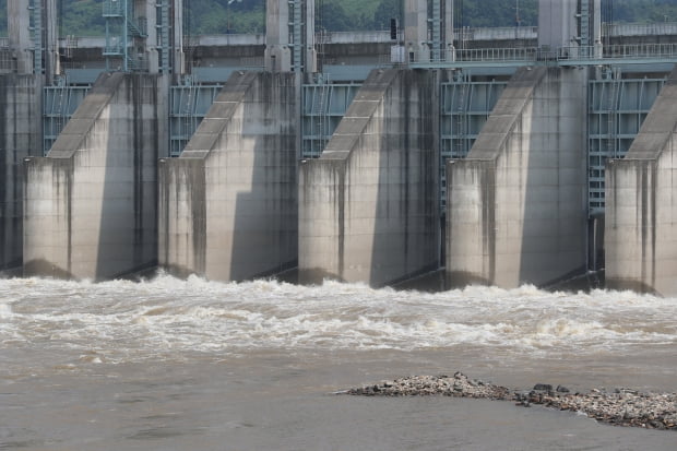
{"type": "Polygon", "coordinates": [[[156,264],[158,85],[103,73],[47,157],[27,159],[25,275],[105,280],[156,264]]]}

